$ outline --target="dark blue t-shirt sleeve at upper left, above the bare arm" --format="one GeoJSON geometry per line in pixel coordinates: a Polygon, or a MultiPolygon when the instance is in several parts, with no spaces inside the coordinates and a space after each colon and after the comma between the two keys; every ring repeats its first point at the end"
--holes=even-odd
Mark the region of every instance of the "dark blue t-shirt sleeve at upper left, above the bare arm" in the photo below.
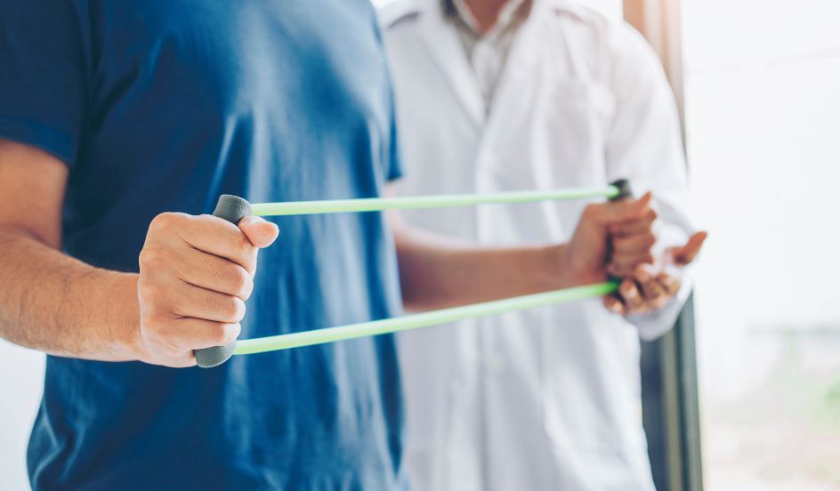
{"type": "Polygon", "coordinates": [[[87,13],[75,2],[0,0],[0,139],[74,164],[85,122],[88,32],[87,13]]]}

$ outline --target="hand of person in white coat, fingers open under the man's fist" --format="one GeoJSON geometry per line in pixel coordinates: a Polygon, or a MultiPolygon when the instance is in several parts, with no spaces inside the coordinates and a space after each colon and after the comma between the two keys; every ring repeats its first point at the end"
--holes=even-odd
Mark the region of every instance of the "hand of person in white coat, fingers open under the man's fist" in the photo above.
{"type": "Polygon", "coordinates": [[[625,269],[619,268],[627,267],[633,267],[633,270],[625,275],[617,294],[604,297],[604,306],[621,315],[646,314],[664,307],[680,291],[680,270],[694,261],[707,235],[706,232],[698,232],[689,237],[684,246],[666,249],[664,267],[659,272],[644,262],[635,266],[608,267],[610,272],[624,272],[625,269]]]}

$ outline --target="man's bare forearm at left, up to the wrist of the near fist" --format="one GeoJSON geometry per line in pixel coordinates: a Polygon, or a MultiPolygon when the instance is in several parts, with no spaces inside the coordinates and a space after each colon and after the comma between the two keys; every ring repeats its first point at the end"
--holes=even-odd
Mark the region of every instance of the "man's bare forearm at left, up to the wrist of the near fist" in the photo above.
{"type": "Polygon", "coordinates": [[[0,229],[0,336],[35,350],[139,357],[137,276],[101,270],[18,229],[0,229]]]}

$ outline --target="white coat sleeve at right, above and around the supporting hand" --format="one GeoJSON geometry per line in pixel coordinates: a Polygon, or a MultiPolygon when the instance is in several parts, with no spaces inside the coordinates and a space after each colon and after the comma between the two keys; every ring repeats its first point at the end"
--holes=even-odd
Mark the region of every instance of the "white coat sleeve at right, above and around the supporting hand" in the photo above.
{"type": "MultiPolygon", "coordinates": [[[[688,176],[674,94],[656,53],[629,25],[610,37],[610,87],[616,112],[607,140],[610,180],[629,179],[634,193],[651,191],[659,213],[658,252],[682,246],[695,229],[689,213],[688,176]]],[[[691,293],[691,266],[682,288],[663,309],[629,316],[642,339],[665,334],[691,293]]]]}

